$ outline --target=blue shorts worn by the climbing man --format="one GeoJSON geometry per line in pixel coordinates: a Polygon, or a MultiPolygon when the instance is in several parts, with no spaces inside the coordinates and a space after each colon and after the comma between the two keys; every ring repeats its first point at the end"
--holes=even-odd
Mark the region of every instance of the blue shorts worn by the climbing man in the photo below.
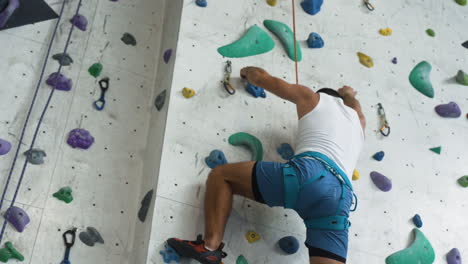
{"type": "MultiPolygon", "coordinates": [[[[353,200],[352,193],[345,191],[344,200],[339,203],[343,191],[342,183],[328,170],[324,172],[325,167],[321,162],[309,158],[298,158],[289,161],[287,164],[296,169],[299,184],[303,184],[318,173],[323,174],[323,177],[303,186],[300,190],[295,211],[302,219],[332,215],[349,216],[353,200]]],[[[255,164],[252,186],[255,199],[258,202],[270,207],[284,207],[283,167],[285,165],[285,163],[265,161],[255,164]]],[[[326,257],[346,262],[348,230],[308,229],[305,244],[311,257],[326,257]]]]}

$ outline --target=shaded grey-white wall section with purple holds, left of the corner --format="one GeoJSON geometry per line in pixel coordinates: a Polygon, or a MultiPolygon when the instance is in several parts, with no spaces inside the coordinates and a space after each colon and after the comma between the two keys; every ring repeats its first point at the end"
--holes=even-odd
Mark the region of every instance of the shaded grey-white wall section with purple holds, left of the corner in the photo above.
{"type": "MultiPolygon", "coordinates": [[[[60,13],[62,1],[46,2],[60,13]]],[[[78,0],[65,2],[8,184],[2,215],[10,206],[19,183],[25,159],[22,153],[30,147],[50,95],[51,87],[45,84],[45,79],[59,67],[51,56],[64,51],[71,29],[69,20],[79,3],[78,0]]],[[[2,239],[2,247],[6,241],[13,242],[24,255],[24,263],[60,263],[65,253],[62,233],[73,227],[78,228],[79,233],[87,226],[95,227],[105,244],[88,247],[77,237],[71,249],[71,263],[143,262],[147,246],[141,246],[141,241],[148,241],[151,222],[141,223],[137,213],[147,187],[151,180],[155,184],[157,174],[157,158],[144,161],[148,160],[147,156],[155,155],[148,153],[160,149],[153,141],[150,141],[151,147],[147,146],[147,139],[150,127],[155,127],[150,125],[151,116],[157,112],[153,94],[157,92],[154,83],[164,11],[164,0],[81,3],[79,13],[88,19],[88,27],[86,31],[74,28],[68,47],[74,62],[61,70],[72,79],[73,88],[69,92],[57,90],[51,97],[34,145],[46,152],[45,162],[28,164],[18,187],[15,206],[27,212],[31,223],[23,233],[8,224],[2,239]],[[121,41],[127,32],[135,37],[136,46],[121,41]],[[103,65],[103,71],[94,78],[88,68],[97,62],[103,65]],[[92,103],[100,96],[98,81],[103,77],[110,78],[110,86],[104,110],[97,111],[92,103]],[[72,149],[66,143],[68,132],[75,128],[87,129],[94,136],[95,142],[88,150],[72,149]],[[70,204],[52,196],[64,186],[73,189],[74,200],[70,204]]],[[[0,31],[0,138],[12,143],[10,153],[0,156],[0,192],[7,185],[56,22],[49,20],[0,31]]],[[[162,116],[163,113],[160,120],[164,120],[162,116]]],[[[162,139],[162,133],[155,129],[151,130],[151,136],[162,139]]],[[[15,260],[11,262],[16,263],[15,260]]]]}

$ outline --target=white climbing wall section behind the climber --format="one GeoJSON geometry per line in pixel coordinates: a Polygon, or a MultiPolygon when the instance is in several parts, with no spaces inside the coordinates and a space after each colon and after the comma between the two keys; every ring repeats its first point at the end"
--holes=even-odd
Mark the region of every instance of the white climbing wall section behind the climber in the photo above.
{"type": "MultiPolygon", "coordinates": [[[[264,160],[281,161],[276,148],[295,143],[294,106],[272,94],[253,98],[238,78],[242,67],[254,65],[294,82],[294,64],[278,39],[274,37],[277,45],[269,53],[231,59],[237,88],[233,96],[221,85],[227,59],[217,53],[251,26],[265,29],[265,19],[292,26],[291,1],[278,2],[271,7],[264,0],[208,1],[208,7],[200,8],[195,1],[184,1],[147,263],[163,263],[159,251],[168,237],[194,239],[203,232],[204,183],[210,171],[204,158],[210,151],[222,150],[229,162],[249,160],[247,150],[227,142],[240,131],[263,142],[264,160]],[[184,98],[184,87],[196,95],[184,98]]],[[[362,1],[335,0],[325,1],[322,11],[310,16],[299,2],[297,38],[303,53],[299,82],[314,90],[354,87],[367,117],[366,145],[357,165],[361,178],[354,182],[359,206],[351,217],[348,263],[384,263],[388,255],[406,248],[413,239],[411,218],[416,213],[435,249],[435,263],[446,263],[445,254],[454,247],[468,258],[463,213],[468,193],[456,182],[468,174],[464,117],[468,89],[454,81],[458,70],[468,71],[468,50],[461,45],[468,40],[468,7],[452,0],[371,1],[376,8],[371,12],[362,1]],[[387,27],[393,34],[380,35],[379,29],[387,27]],[[428,28],[435,37],[426,34],[428,28]],[[323,37],[324,48],[307,48],[311,32],[323,37]],[[361,65],[357,52],[372,57],[374,67],[361,65]],[[394,57],[397,64],[391,62],[394,57]],[[410,71],[423,60],[433,67],[434,99],[408,81],[410,71]],[[435,113],[436,105],[450,101],[459,104],[462,117],[443,119],[435,113]],[[378,132],[378,103],[386,110],[389,137],[378,132]],[[438,146],[440,155],[429,151],[438,146]],[[373,160],[371,156],[381,150],[385,158],[373,160]],[[386,193],[377,189],[371,171],[390,178],[393,189],[386,193]]],[[[225,235],[229,256],[224,263],[235,263],[240,254],[249,263],[307,263],[304,246],[291,257],[276,246],[286,235],[304,241],[304,231],[293,211],[237,197],[225,235]],[[262,239],[249,244],[244,237],[248,231],[258,232],[262,239]]]]}

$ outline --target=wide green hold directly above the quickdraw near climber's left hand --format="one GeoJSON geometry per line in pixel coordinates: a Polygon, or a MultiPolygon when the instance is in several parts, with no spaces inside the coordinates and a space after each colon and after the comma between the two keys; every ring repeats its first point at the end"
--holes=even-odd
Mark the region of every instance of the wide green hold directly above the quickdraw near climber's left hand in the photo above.
{"type": "Polygon", "coordinates": [[[243,58],[272,50],[275,42],[263,29],[254,25],[239,40],[218,49],[219,54],[228,58],[243,58]]]}

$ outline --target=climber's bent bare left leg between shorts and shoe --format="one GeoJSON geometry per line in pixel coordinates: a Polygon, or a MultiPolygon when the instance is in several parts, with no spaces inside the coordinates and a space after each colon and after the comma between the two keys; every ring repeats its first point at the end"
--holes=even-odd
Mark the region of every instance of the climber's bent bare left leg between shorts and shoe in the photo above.
{"type": "Polygon", "coordinates": [[[206,181],[205,246],[217,249],[232,209],[234,194],[254,199],[252,169],[255,162],[226,164],[213,169],[206,181]]]}

